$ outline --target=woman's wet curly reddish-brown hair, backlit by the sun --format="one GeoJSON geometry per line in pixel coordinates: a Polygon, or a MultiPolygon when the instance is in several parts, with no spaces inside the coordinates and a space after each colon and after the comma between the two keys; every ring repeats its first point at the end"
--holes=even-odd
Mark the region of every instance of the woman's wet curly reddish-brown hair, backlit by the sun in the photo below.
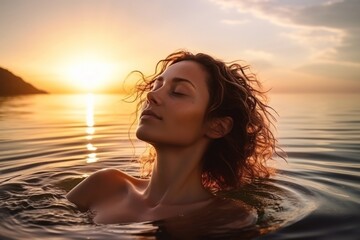
{"type": "MultiPolygon", "coordinates": [[[[145,77],[140,71],[136,84],[135,99],[139,100],[137,112],[146,102],[155,79],[169,66],[181,61],[194,61],[208,73],[207,85],[210,100],[205,120],[229,116],[233,119],[232,130],[208,146],[202,165],[202,183],[209,190],[229,190],[255,179],[267,178],[274,169],[268,161],[280,156],[273,129],[275,110],[267,105],[266,91],[248,65],[226,63],[204,53],[193,54],[177,51],[160,60],[155,73],[145,77]]],[[[142,156],[143,172],[151,175],[156,160],[153,147],[142,156]]]]}

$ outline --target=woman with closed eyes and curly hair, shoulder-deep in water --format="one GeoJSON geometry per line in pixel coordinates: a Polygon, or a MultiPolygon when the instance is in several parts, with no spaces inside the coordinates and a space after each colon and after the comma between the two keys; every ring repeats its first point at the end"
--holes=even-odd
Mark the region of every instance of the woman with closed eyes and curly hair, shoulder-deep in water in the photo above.
{"type": "Polygon", "coordinates": [[[251,208],[216,196],[220,190],[268,177],[266,162],[277,153],[271,108],[247,70],[185,51],[159,61],[155,74],[141,74],[137,85],[141,113],[136,136],[152,146],[143,158],[143,166],[151,166],[150,178],[105,169],[81,182],[67,198],[93,210],[98,223],[236,209],[231,212],[237,221],[254,224],[251,208]]]}

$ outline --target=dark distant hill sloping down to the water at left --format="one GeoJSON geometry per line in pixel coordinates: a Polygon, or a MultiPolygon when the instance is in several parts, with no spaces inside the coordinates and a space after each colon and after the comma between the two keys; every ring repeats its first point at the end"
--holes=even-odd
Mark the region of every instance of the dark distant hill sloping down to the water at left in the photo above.
{"type": "Polygon", "coordinates": [[[0,96],[47,93],[0,67],[0,96]]]}

